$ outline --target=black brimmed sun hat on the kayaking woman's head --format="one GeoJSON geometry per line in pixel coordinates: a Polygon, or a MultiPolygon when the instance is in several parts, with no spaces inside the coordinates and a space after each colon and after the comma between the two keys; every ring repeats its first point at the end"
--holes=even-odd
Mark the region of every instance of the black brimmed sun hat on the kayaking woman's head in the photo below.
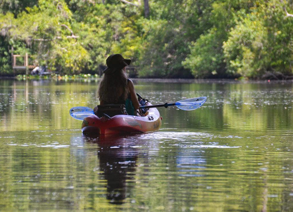
{"type": "Polygon", "coordinates": [[[108,66],[103,73],[112,74],[116,70],[121,70],[127,65],[130,65],[130,59],[124,59],[120,54],[110,55],[106,60],[106,65],[108,66]]]}

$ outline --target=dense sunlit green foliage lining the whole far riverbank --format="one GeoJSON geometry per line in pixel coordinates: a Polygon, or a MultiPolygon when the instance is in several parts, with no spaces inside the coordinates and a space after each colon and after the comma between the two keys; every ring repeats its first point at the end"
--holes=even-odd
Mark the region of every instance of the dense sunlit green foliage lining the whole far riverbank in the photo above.
{"type": "Polygon", "coordinates": [[[13,73],[11,53],[61,74],[98,73],[107,55],[121,53],[139,77],[292,76],[292,2],[149,0],[149,11],[143,4],[0,0],[0,75],[13,73]]]}

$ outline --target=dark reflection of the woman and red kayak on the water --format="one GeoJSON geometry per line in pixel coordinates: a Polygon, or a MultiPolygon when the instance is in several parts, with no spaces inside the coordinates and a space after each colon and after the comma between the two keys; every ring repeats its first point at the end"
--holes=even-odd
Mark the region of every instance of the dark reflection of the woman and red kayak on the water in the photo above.
{"type": "Polygon", "coordinates": [[[122,204],[130,195],[130,183],[135,183],[134,171],[138,158],[135,140],[129,135],[86,136],[88,142],[98,143],[100,170],[107,181],[107,199],[122,204]]]}

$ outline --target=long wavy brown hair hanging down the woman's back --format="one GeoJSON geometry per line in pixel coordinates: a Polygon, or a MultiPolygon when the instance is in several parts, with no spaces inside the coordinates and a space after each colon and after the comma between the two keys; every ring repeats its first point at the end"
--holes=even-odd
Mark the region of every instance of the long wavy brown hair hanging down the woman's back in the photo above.
{"type": "Polygon", "coordinates": [[[98,88],[98,98],[108,103],[117,103],[120,99],[126,100],[129,90],[127,74],[123,69],[117,69],[113,73],[105,73],[98,88]]]}

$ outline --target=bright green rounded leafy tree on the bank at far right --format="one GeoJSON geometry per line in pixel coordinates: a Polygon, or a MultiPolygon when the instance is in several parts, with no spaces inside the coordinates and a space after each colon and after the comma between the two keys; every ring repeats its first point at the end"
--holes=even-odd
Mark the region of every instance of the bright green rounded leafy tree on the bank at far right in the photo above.
{"type": "Polygon", "coordinates": [[[292,74],[292,22],[278,1],[258,1],[237,21],[224,42],[227,72],[261,77],[266,72],[292,74]]]}

